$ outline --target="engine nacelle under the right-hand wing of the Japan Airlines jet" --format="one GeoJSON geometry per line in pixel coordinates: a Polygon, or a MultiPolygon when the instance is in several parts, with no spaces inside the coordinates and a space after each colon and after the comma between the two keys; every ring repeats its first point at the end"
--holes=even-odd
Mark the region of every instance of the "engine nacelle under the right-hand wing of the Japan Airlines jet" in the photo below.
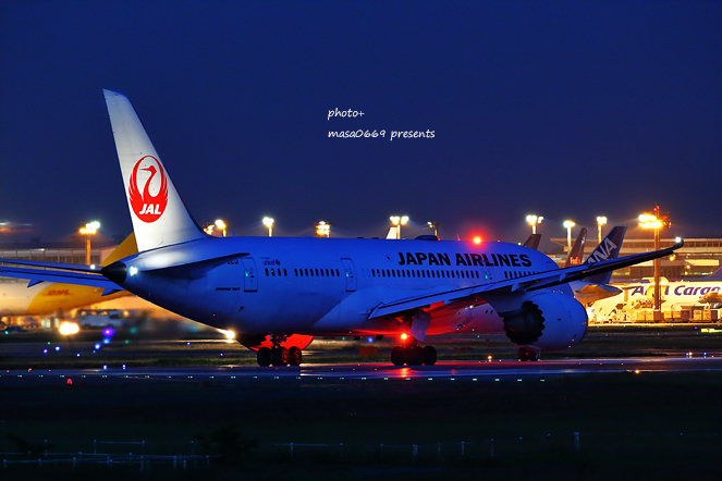
{"type": "Polygon", "coordinates": [[[504,313],[504,331],[512,342],[531,349],[568,349],[587,332],[587,311],[572,296],[540,293],[504,313]]]}

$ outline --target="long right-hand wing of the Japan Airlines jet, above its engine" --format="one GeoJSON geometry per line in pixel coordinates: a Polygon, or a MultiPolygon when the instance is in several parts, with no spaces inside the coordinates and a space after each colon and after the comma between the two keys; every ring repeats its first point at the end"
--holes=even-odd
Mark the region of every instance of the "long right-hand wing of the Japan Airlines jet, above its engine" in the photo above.
{"type": "Polygon", "coordinates": [[[591,264],[582,264],[553,271],[539,272],[533,275],[525,275],[524,278],[509,279],[500,282],[474,285],[469,287],[460,287],[452,291],[430,293],[423,296],[408,297],[390,303],[383,303],[371,311],[369,318],[380,318],[383,316],[396,314],[409,309],[428,306],[436,303],[444,303],[446,305],[453,303],[467,303],[469,300],[482,299],[485,295],[503,295],[553,287],[560,284],[570,283],[572,281],[578,281],[593,274],[601,274],[640,262],[646,262],[648,260],[669,256],[674,252],[674,250],[681,248],[683,245],[684,240],[680,239],[680,242],[677,242],[672,247],[653,250],[651,252],[636,254],[634,256],[603,260],[591,264]]]}

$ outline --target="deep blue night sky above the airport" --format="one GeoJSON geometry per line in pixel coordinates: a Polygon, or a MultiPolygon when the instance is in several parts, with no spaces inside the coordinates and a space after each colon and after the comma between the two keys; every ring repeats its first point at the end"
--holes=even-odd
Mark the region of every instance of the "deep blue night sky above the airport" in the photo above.
{"type": "Polygon", "coordinates": [[[0,240],[131,232],[102,88],[237,235],[407,214],[405,237],[521,242],[529,213],[563,237],[660,203],[722,236],[721,25],[719,1],[0,0],[0,221],[32,224],[0,240]],[[387,135],[328,137],[352,130],[387,135]]]}

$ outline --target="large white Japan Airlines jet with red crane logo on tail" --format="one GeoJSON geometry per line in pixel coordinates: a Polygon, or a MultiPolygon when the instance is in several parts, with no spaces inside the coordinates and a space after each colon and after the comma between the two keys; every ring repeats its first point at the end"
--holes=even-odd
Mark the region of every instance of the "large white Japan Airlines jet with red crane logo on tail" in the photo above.
{"type": "MultiPolygon", "coordinates": [[[[533,351],[578,344],[587,312],[570,282],[669,256],[665,249],[560,269],[546,255],[501,242],[360,238],[210,237],[181,201],[130,100],[105,90],[138,252],[101,269],[3,260],[8,276],[126,289],[180,316],[268,337],[260,366],[297,366],[294,335],[399,335],[395,366],[433,365],[428,335],[453,332],[460,318],[503,320],[510,340],[533,351]]],[[[245,345],[245,344],[244,344],[245,345]]],[[[257,345],[257,344],[256,344],[257,345]]]]}

